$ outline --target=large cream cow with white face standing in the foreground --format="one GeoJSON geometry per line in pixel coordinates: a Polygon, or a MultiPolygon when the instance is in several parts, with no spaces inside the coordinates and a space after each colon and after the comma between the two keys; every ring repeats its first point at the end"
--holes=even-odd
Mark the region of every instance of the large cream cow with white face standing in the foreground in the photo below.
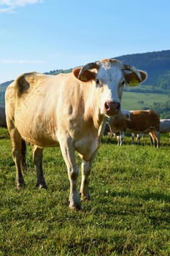
{"type": "Polygon", "coordinates": [[[69,74],[20,75],[5,93],[7,128],[12,140],[16,183],[23,178],[22,138],[34,145],[36,186],[46,188],[42,171],[45,147],[61,147],[70,181],[69,207],[81,209],[77,192],[79,173],[75,151],[82,159],[82,200],[90,199],[88,177],[108,116],[120,112],[123,87],[132,81],[141,83],[147,73],[115,59],[85,64],[69,74]]]}

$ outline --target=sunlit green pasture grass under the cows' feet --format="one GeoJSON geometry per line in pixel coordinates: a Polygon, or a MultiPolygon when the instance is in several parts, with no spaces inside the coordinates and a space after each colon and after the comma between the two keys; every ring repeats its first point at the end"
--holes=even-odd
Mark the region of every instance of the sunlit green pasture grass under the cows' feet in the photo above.
{"type": "Polygon", "coordinates": [[[45,190],[35,187],[28,146],[26,187],[18,190],[6,129],[0,137],[0,255],[170,255],[169,135],[161,136],[159,149],[148,138],[144,146],[125,138],[118,147],[104,137],[82,211],[68,207],[60,148],[45,149],[45,190]]]}

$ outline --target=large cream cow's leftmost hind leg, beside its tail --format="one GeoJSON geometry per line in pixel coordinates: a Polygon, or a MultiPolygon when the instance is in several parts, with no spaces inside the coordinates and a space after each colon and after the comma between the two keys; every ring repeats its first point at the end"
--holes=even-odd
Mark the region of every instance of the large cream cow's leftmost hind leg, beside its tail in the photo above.
{"type": "Polygon", "coordinates": [[[25,186],[23,172],[26,167],[26,144],[18,129],[9,127],[9,135],[12,141],[12,158],[16,167],[16,183],[17,187],[20,188],[25,186]]]}

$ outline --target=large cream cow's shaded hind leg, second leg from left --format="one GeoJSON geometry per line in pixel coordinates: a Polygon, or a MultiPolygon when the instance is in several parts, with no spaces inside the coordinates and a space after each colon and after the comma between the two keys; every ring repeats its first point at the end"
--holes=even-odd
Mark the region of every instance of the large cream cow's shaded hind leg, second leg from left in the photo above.
{"type": "Polygon", "coordinates": [[[37,178],[36,187],[39,187],[39,189],[47,189],[47,184],[45,182],[45,177],[42,170],[42,153],[43,148],[39,148],[38,146],[33,147],[33,159],[37,178]]]}

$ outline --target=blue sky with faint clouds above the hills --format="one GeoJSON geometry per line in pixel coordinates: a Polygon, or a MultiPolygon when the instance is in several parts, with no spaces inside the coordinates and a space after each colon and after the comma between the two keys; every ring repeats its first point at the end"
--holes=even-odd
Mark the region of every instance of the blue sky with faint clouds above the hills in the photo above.
{"type": "Polygon", "coordinates": [[[0,83],[170,50],[169,0],[0,0],[0,83]]]}

